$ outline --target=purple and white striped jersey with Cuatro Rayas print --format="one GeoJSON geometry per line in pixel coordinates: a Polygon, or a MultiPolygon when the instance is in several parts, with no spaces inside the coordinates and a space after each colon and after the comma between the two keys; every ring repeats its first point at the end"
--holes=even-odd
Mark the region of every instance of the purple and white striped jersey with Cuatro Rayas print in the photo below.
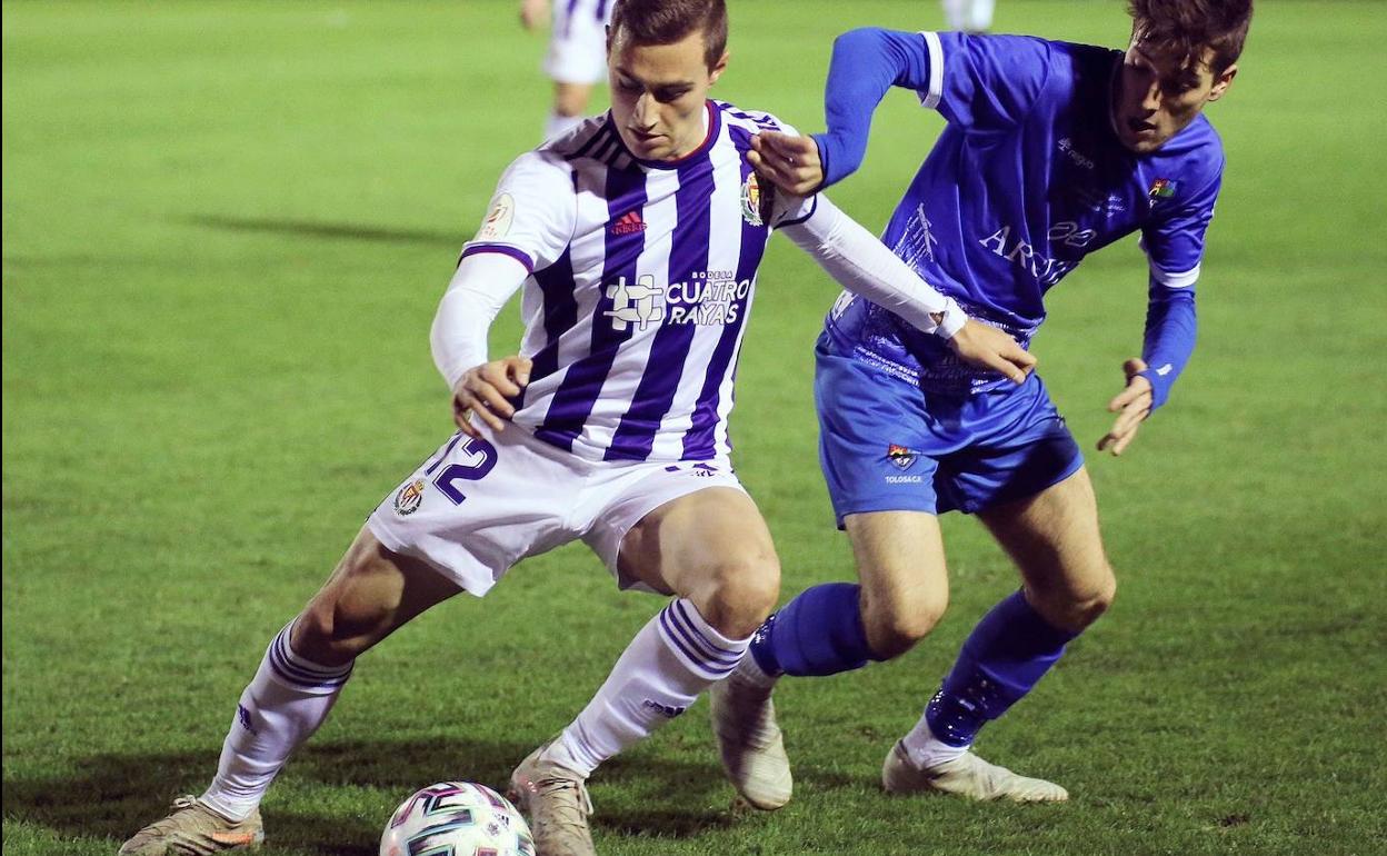
{"type": "Polygon", "coordinates": [[[707,461],[730,451],[732,379],[773,228],[814,197],[763,190],[746,162],[766,114],[707,103],[707,136],[671,162],[627,151],[610,114],[517,158],[463,257],[531,272],[513,422],[591,461],[707,461]]]}

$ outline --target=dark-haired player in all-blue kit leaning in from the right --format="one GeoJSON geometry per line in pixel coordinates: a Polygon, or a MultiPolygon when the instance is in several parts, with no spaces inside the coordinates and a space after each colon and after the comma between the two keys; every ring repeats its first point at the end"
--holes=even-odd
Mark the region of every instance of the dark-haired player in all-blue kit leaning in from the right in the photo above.
{"type": "MultiPolygon", "coordinates": [[[[1132,0],[1125,51],[1018,36],[849,32],[834,46],[828,132],[764,133],[753,161],[779,187],[831,186],[861,162],[872,111],[913,89],[947,126],[885,243],[974,320],[1028,343],[1043,298],[1087,254],[1133,232],[1150,262],[1142,358],[1099,450],[1121,455],[1171,394],[1194,347],[1194,284],[1223,172],[1204,107],[1237,72],[1251,0],[1132,0]]],[[[942,616],[936,515],[975,513],[1015,560],[1021,591],[974,628],[918,724],[889,751],[888,792],[1062,801],[1064,788],[970,752],[1112,602],[1079,447],[1040,377],[1015,384],[963,365],[890,311],[845,296],[817,345],[821,455],[860,585],[802,592],[760,627],[713,692],[734,784],[789,798],[770,694],[781,674],[824,676],[902,655],[942,616]]]]}

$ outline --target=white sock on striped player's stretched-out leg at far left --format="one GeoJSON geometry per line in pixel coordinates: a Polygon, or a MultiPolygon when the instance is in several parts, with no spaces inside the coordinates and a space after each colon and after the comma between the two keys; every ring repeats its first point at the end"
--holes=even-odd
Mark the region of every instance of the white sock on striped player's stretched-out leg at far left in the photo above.
{"type": "Polygon", "coordinates": [[[327,719],[351,677],[352,663],[319,666],[294,653],[288,647],[293,626],[269,644],[241,692],[216,778],[201,798],[230,820],[250,817],[288,756],[327,719]]]}

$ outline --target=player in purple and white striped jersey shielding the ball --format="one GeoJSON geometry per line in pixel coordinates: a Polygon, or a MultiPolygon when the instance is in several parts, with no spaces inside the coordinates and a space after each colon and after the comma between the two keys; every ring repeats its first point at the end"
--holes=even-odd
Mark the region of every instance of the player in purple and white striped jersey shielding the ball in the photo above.
{"type": "Polygon", "coordinates": [[[588,776],[730,674],[778,597],[770,533],[727,436],[773,230],[961,359],[1017,380],[1029,369],[1011,336],[964,320],[827,198],[759,182],[752,140],[788,129],[707,99],[727,65],[723,0],[623,0],[609,37],[612,110],[512,164],[440,305],[433,352],[458,433],[386,497],[270,642],[211,787],[122,853],[258,844],[261,798],[358,655],[574,540],[620,587],[673,595],[512,776],[540,856],[592,853],[588,776]],[[524,341],[492,359],[487,330],[519,289],[524,341]]]}

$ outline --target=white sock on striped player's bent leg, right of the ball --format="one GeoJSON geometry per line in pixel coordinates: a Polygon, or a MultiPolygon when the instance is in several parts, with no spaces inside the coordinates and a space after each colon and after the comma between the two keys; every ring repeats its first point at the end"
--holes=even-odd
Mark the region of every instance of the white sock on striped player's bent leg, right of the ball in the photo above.
{"type": "Polygon", "coordinates": [[[731,674],[749,642],[721,635],[691,601],[671,601],[635,634],[598,694],[541,757],[591,776],[731,674]]]}

